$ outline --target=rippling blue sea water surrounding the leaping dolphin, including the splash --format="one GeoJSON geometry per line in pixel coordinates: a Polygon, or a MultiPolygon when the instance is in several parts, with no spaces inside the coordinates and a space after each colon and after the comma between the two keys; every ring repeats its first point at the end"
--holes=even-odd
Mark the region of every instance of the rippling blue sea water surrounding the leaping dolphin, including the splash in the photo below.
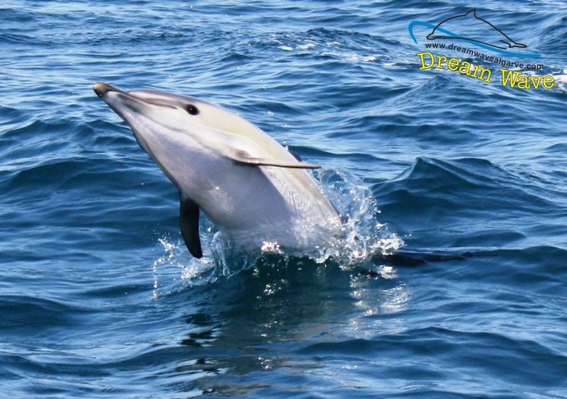
{"type": "Polygon", "coordinates": [[[0,397],[567,398],[562,1],[4,0],[0,21],[0,397]],[[410,22],[473,7],[554,89],[419,69],[410,22]],[[323,165],[369,247],[223,257],[203,220],[192,259],[94,82],[240,113],[323,165]]]}

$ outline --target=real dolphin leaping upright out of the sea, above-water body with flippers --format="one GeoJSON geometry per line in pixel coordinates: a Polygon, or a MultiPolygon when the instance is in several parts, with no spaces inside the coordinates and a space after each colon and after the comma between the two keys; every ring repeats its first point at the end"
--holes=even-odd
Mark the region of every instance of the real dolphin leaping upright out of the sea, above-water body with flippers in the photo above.
{"type": "Polygon", "coordinates": [[[336,208],[300,162],[252,123],[205,101],[156,90],[95,93],[135,138],[181,197],[180,225],[189,252],[202,257],[203,210],[247,247],[318,245],[340,225],[336,208]]]}

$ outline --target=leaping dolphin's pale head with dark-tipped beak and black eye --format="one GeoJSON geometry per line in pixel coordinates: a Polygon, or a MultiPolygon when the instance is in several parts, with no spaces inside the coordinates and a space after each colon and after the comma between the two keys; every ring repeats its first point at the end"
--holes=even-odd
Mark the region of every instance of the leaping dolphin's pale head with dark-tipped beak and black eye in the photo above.
{"type": "Polygon", "coordinates": [[[211,142],[227,141],[221,135],[262,132],[237,114],[193,97],[148,89],[123,91],[106,83],[95,83],[93,89],[130,125],[140,147],[177,186],[196,161],[194,155],[204,156],[203,145],[214,149],[211,142]]]}

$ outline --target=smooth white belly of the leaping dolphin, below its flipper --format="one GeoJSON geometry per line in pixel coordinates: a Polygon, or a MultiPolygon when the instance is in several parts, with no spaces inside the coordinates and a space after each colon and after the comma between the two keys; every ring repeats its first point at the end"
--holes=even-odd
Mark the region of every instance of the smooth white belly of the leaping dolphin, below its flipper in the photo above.
{"type": "Polygon", "coordinates": [[[337,213],[303,170],[235,164],[234,161],[179,140],[153,147],[162,169],[179,190],[195,201],[223,232],[254,245],[279,242],[297,247],[314,244],[311,230],[338,223],[337,213]],[[303,186],[293,172],[313,186],[303,186]],[[328,204],[328,205],[327,205],[328,204]]]}

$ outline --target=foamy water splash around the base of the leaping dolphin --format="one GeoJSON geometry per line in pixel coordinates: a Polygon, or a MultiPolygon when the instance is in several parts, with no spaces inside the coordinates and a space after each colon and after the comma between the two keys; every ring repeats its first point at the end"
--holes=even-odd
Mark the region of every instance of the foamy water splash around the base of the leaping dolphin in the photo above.
{"type": "Polygon", "coordinates": [[[403,247],[403,240],[393,228],[379,222],[378,204],[363,181],[349,172],[333,169],[315,172],[315,179],[343,220],[335,235],[325,237],[320,245],[309,249],[286,249],[278,242],[264,242],[260,249],[250,252],[235,245],[210,220],[203,218],[202,259],[191,258],[181,240],[172,242],[171,237],[159,237],[164,254],[153,266],[155,296],[168,285],[162,282],[166,279],[170,283],[179,279],[189,285],[208,283],[220,276],[274,262],[278,266],[293,266],[298,259],[320,265],[337,262],[342,269],[350,269],[369,262],[376,254],[391,254],[403,247]]]}

